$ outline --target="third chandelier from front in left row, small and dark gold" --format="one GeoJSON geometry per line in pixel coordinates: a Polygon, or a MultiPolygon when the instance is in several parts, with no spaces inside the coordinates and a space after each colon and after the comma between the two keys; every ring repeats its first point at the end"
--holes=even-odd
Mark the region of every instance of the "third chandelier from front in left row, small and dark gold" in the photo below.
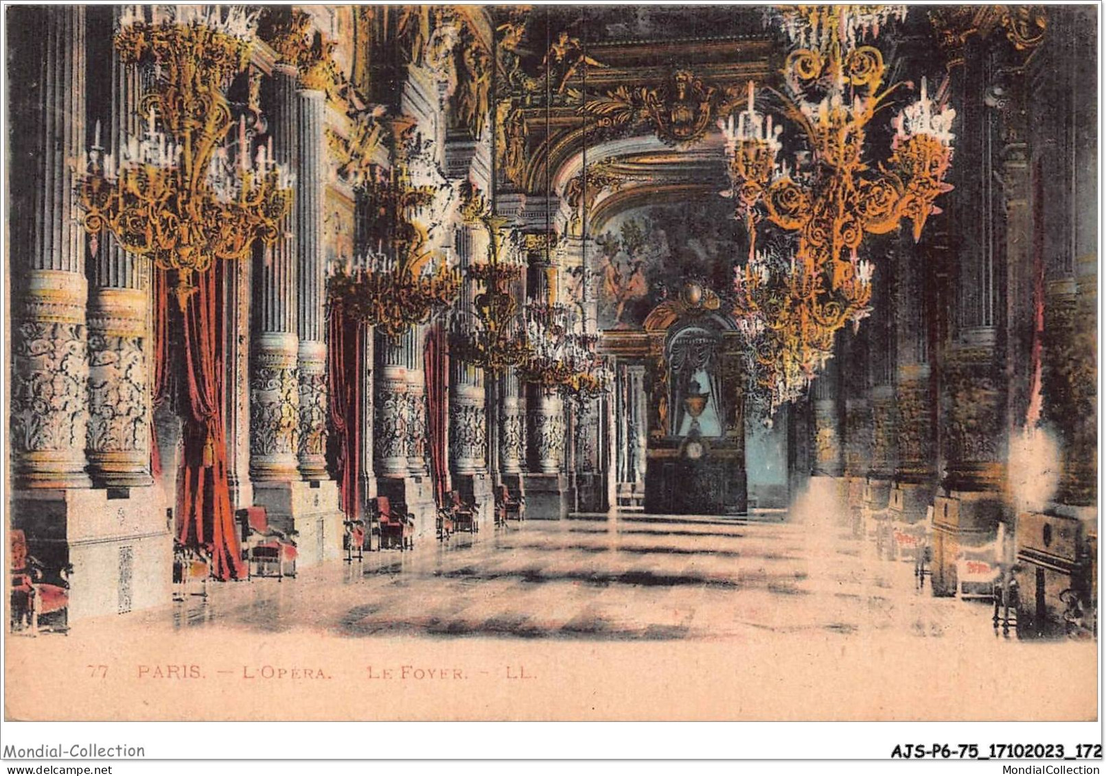
{"type": "Polygon", "coordinates": [[[508,220],[487,211],[479,220],[488,230],[488,261],[470,266],[468,275],[484,290],[473,300],[472,313],[455,318],[452,348],[462,360],[499,374],[532,356],[518,303],[510,291],[510,284],[522,275],[522,265],[502,260],[508,220]]]}

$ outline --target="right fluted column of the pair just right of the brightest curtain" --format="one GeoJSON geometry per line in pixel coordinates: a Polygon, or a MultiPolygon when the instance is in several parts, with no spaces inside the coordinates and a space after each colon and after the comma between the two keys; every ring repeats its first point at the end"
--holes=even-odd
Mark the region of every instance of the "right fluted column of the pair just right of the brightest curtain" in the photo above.
{"type": "Polygon", "coordinates": [[[299,254],[298,328],[300,334],[300,472],[304,480],[325,480],[326,342],[324,289],[326,256],[323,218],[326,149],[323,119],[326,95],[302,90],[296,99],[299,155],[295,172],[295,242],[299,254]]]}

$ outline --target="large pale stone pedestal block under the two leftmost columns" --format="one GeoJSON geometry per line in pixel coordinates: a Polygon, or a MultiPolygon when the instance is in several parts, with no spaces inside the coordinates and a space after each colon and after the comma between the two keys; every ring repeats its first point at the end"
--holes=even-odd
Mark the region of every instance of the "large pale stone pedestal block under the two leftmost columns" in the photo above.
{"type": "Polygon", "coordinates": [[[173,525],[157,490],[14,491],[11,515],[46,581],[73,566],[69,622],[171,600],[173,525]]]}

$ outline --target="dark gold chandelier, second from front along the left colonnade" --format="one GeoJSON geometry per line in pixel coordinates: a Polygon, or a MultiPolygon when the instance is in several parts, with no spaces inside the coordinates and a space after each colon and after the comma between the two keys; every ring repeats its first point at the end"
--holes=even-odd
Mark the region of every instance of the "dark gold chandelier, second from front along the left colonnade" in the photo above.
{"type": "Polygon", "coordinates": [[[332,304],[396,338],[448,310],[461,276],[448,255],[426,247],[426,210],[438,188],[410,179],[405,136],[415,122],[397,116],[390,125],[395,159],[388,178],[364,188],[374,229],[388,237],[377,240],[375,251],[366,248],[354,260],[333,262],[327,291],[332,304]]]}

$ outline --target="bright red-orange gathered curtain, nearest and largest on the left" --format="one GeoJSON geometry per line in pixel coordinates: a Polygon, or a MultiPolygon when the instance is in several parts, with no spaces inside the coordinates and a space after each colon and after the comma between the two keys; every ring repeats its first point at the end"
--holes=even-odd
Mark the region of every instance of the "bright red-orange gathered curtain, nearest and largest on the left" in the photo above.
{"type": "MultiPolygon", "coordinates": [[[[177,474],[177,531],[181,544],[210,550],[217,579],[241,579],[246,566],[238,542],[227,482],[223,423],[222,263],[194,273],[196,291],[182,314],[184,377],[181,397],[184,459],[177,474]]],[[[166,284],[167,285],[167,284],[166,284]]],[[[163,285],[163,289],[166,289],[163,285]]],[[[175,303],[175,301],[174,301],[175,303]]]]}

